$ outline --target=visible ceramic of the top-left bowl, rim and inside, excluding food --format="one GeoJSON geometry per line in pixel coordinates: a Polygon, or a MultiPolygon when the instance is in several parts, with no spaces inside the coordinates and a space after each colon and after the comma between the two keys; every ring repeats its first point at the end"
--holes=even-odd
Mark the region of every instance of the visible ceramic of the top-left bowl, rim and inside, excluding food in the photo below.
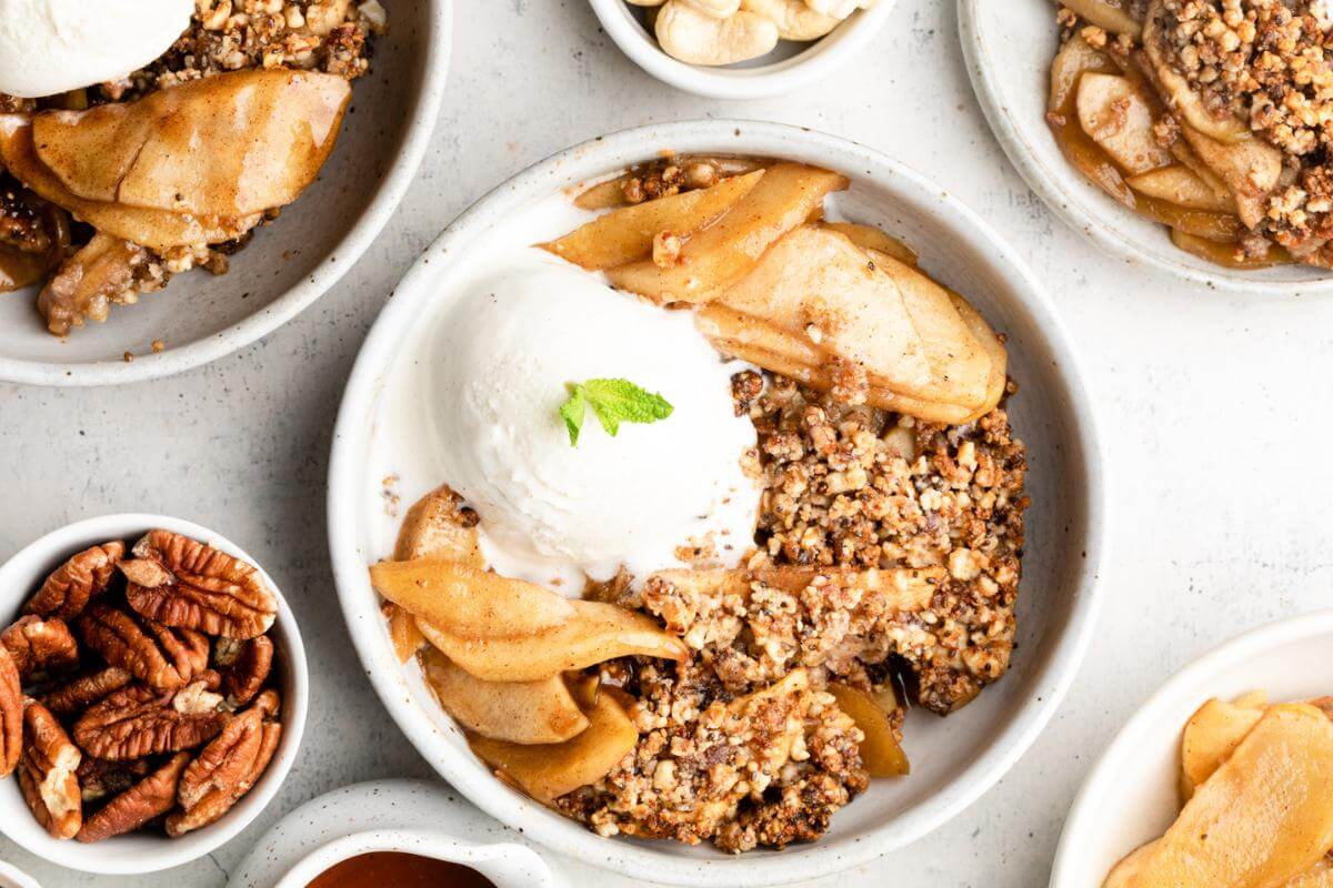
{"type": "Polygon", "coordinates": [[[373,69],[356,83],[355,113],[320,180],[232,257],[229,273],[179,276],[64,339],[47,333],[36,290],[0,293],[0,379],[69,386],[171,375],[267,335],[337,284],[416,176],[449,67],[453,0],[385,7],[389,32],[376,39],[373,69]],[[161,353],[153,339],[165,342],[161,353]]]}

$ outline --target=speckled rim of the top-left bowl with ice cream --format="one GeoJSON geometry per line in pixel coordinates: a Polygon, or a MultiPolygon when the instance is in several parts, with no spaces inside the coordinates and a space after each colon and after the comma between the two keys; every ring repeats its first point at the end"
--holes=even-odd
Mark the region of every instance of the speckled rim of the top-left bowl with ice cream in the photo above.
{"type": "Polygon", "coordinates": [[[160,379],[216,361],[268,335],[329,292],[356,265],[393,217],[421,166],[425,149],[435,132],[440,103],[444,99],[444,84],[449,73],[453,0],[421,1],[429,3],[432,8],[431,33],[424,40],[427,57],[421,91],[403,137],[403,150],[389,168],[375,197],[361,210],[356,224],[329,250],[329,258],[320,262],[313,272],[301,278],[300,284],[273,300],[263,310],[219,330],[211,337],[183,345],[179,349],[169,347],[160,354],[144,354],[133,362],[52,363],[0,358],[0,381],[45,386],[101,386],[160,379]],[[337,257],[337,261],[335,262],[332,257],[337,257]]]}

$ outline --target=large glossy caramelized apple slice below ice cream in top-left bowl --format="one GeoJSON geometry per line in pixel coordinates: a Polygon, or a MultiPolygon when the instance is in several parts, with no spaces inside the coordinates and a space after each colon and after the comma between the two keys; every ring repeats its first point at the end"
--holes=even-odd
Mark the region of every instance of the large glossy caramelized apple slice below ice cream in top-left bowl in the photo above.
{"type": "Polygon", "coordinates": [[[249,216],[315,181],[351,96],[335,75],[239,71],[125,105],[37,114],[33,138],[43,164],[84,200],[249,216]]]}

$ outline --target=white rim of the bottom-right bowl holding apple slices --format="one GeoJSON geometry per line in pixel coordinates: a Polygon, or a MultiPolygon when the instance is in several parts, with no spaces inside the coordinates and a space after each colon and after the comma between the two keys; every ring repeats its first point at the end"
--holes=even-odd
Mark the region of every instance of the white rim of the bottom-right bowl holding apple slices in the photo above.
{"type": "MultiPolygon", "coordinates": [[[[1056,847],[1056,861],[1050,868],[1050,888],[1088,888],[1085,883],[1076,881],[1069,873],[1076,869],[1074,864],[1085,853],[1088,837],[1100,835],[1105,829],[1100,801],[1109,793],[1114,783],[1124,780],[1125,774],[1133,771],[1128,763],[1142,748],[1146,736],[1156,734],[1164,723],[1184,726],[1193,707],[1209,696],[1208,687],[1216,676],[1236,664],[1245,663],[1266,651],[1321,636],[1333,639],[1333,610],[1292,616],[1252,630],[1214,647],[1168,679],[1129,718],[1125,727],[1097,759],[1078,795],[1074,796],[1073,807],[1065,819],[1065,828],[1060,833],[1060,844],[1056,847]]],[[[1130,851],[1133,848],[1126,848],[1125,853],[1130,851]]]]}

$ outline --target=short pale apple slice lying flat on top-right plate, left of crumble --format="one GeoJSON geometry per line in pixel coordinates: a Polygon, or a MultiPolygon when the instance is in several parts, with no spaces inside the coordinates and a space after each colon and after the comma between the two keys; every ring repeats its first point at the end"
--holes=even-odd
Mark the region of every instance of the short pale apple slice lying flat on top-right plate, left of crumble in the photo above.
{"type": "Polygon", "coordinates": [[[1078,81],[1078,124],[1132,174],[1172,162],[1153,136],[1153,112],[1134,84],[1117,75],[1085,73],[1078,81]]]}

